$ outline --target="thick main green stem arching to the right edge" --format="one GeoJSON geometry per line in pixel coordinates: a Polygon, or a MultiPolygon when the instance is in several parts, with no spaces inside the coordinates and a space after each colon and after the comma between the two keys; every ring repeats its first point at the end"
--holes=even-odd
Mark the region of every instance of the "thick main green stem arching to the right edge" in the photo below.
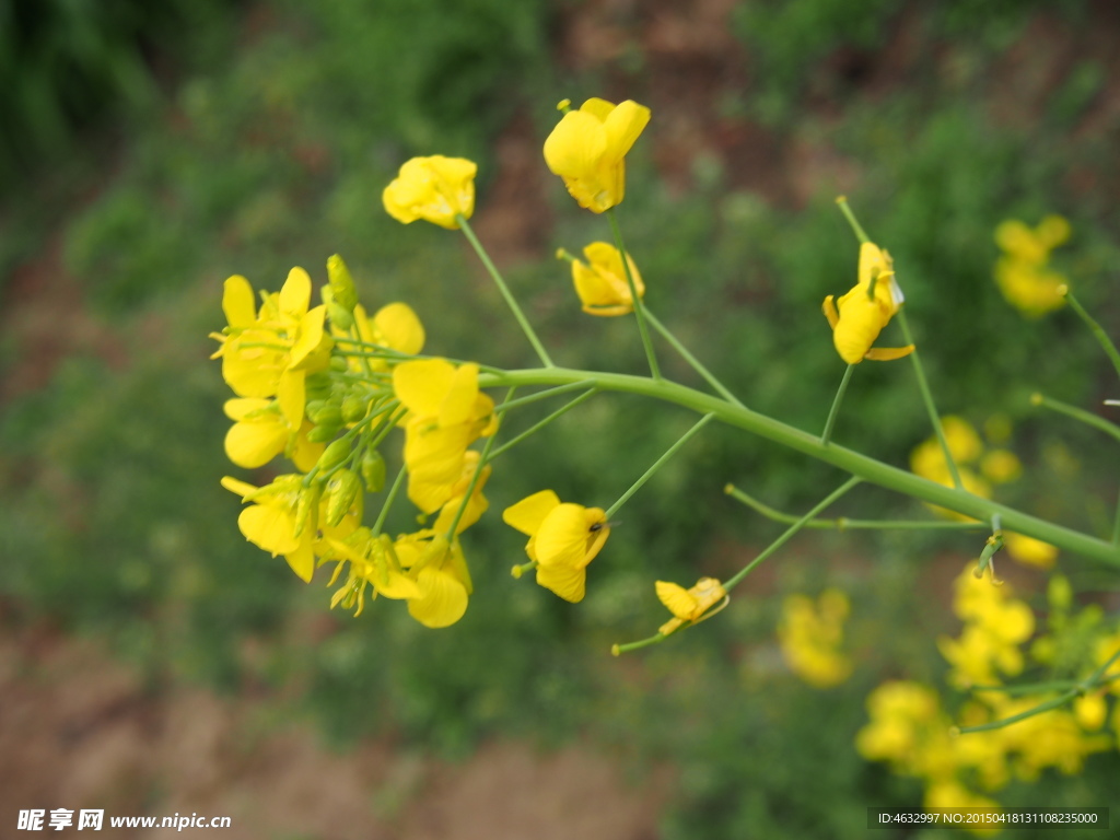
{"type": "Polygon", "coordinates": [[[675,382],[668,380],[655,382],[648,376],[576,371],[564,367],[483,373],[479,374],[478,381],[483,388],[508,385],[596,388],[600,391],[632,393],[653,398],[662,402],[688,408],[700,414],[713,413],[716,419],[722,423],[745,429],[788,449],[803,452],[825,464],[831,464],[871,484],[887,487],[896,493],[917,498],[922,502],[928,502],[939,507],[948,507],[951,511],[970,516],[971,519],[981,520],[982,522],[989,522],[992,514],[998,513],[1004,528],[1008,531],[1034,536],[1036,540],[1048,542],[1060,549],[1092,558],[1109,566],[1120,567],[1120,548],[1110,542],[1053,522],[1040,520],[991,500],[967,493],[960,488],[946,487],[942,484],[931,482],[908,470],[893,467],[837,444],[824,446],[816,435],[795,429],[774,418],[752,411],[750,409],[734,405],[719,396],[703,393],[702,391],[697,391],[675,382]]]}

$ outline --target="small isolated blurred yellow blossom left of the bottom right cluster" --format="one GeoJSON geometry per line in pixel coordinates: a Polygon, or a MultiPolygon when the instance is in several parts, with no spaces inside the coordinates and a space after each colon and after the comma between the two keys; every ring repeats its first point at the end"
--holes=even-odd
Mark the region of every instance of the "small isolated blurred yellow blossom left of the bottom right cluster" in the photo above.
{"type": "Polygon", "coordinates": [[[839,589],[825,589],[815,601],[791,595],[782,603],[782,654],[810,685],[827,689],[851,674],[851,660],[840,652],[849,608],[848,596],[839,589]]]}

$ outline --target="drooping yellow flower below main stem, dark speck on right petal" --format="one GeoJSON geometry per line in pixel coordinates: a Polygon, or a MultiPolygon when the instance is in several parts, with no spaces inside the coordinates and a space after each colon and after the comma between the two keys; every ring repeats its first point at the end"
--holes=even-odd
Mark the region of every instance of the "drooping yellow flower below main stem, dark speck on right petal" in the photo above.
{"type": "Polygon", "coordinates": [[[536,564],[536,582],[564,600],[582,600],[587,564],[610,535],[603,508],[561,503],[541,491],[506,507],[502,519],[529,535],[525,553],[536,564]]]}

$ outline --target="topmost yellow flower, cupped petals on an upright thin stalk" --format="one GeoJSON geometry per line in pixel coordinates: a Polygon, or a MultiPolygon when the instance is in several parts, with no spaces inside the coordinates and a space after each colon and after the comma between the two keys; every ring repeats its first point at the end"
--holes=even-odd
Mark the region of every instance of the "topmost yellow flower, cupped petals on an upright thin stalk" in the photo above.
{"type": "Polygon", "coordinates": [[[580,207],[603,213],[623,200],[626,152],[647,122],[650,109],[633,100],[615,105],[590,99],[552,129],[544,141],[544,162],[563,178],[580,207]]]}

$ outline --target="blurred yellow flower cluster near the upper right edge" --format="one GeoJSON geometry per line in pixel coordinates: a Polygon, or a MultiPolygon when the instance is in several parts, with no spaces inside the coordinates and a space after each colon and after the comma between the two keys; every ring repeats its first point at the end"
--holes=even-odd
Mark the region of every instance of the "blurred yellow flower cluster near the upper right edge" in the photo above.
{"type": "Polygon", "coordinates": [[[996,228],[1004,252],[996,262],[996,284],[1007,302],[1030,318],[1065,304],[1065,277],[1049,268],[1049,254],[1070,239],[1070,223],[1046,216],[1037,227],[1008,220],[996,228]]]}

